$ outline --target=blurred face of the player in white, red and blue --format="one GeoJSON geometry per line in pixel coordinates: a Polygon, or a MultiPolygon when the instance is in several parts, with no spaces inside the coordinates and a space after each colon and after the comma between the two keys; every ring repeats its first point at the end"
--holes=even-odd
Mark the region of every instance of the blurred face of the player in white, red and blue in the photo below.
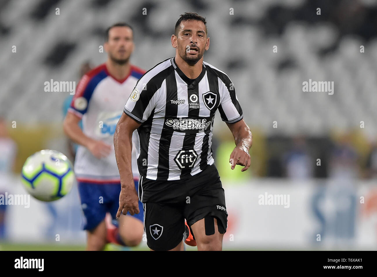
{"type": "Polygon", "coordinates": [[[133,51],[132,30],[129,27],[113,27],[109,31],[109,40],[104,44],[110,59],[118,64],[125,64],[133,51]]]}

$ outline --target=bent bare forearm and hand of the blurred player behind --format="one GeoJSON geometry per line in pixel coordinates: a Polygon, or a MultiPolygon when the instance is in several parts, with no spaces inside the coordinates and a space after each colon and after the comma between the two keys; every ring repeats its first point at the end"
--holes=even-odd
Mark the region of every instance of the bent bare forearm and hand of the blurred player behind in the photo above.
{"type": "Polygon", "coordinates": [[[75,143],[86,147],[97,159],[109,155],[111,151],[110,145],[86,136],[78,125],[80,120],[81,118],[79,116],[68,112],[63,122],[64,133],[75,143]]]}

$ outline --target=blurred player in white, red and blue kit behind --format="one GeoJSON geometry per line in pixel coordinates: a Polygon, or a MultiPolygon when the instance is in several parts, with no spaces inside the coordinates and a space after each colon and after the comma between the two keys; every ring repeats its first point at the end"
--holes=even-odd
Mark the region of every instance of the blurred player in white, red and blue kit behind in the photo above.
{"type": "MultiPolygon", "coordinates": [[[[124,101],[145,71],[129,62],[134,43],[128,24],[117,23],[106,30],[104,49],[106,63],[81,78],[63,124],[65,133],[79,144],[74,170],[85,217],[87,250],[101,250],[107,242],[136,246],[143,238],[143,213],[128,213],[116,222],[121,185],[113,135],[124,101]],[[81,119],[83,130],[78,126],[81,119]],[[107,212],[119,228],[106,228],[107,212]]],[[[133,168],[132,182],[137,190],[139,173],[136,165],[133,168]]]]}

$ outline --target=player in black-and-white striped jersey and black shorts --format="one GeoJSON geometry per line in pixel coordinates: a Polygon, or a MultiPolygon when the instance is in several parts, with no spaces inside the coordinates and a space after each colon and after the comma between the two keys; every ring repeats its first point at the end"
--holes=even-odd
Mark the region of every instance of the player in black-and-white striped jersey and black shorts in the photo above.
{"type": "Polygon", "coordinates": [[[172,35],[175,57],[148,70],[124,107],[115,130],[121,176],[121,213],[137,214],[143,202],[151,250],[182,249],[185,222],[198,250],[221,250],[227,229],[224,189],[211,151],[216,110],[234,136],[231,168],[250,167],[252,136],[227,74],[203,61],[210,39],[205,18],[181,15],[172,35]],[[141,175],[138,194],[131,171],[131,137],[137,129],[141,175]]]}

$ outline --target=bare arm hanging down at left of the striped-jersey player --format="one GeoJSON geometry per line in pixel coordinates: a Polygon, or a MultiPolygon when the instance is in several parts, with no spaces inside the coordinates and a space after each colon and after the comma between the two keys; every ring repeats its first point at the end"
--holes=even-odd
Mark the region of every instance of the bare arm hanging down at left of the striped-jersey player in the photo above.
{"type": "Polygon", "coordinates": [[[114,133],[114,148],[116,164],[120,174],[121,192],[119,195],[119,208],[116,213],[116,218],[127,211],[131,215],[138,214],[139,204],[138,195],[135,189],[132,174],[132,133],[138,129],[141,124],[130,118],[126,113],[123,113],[116,124],[114,133]]]}

